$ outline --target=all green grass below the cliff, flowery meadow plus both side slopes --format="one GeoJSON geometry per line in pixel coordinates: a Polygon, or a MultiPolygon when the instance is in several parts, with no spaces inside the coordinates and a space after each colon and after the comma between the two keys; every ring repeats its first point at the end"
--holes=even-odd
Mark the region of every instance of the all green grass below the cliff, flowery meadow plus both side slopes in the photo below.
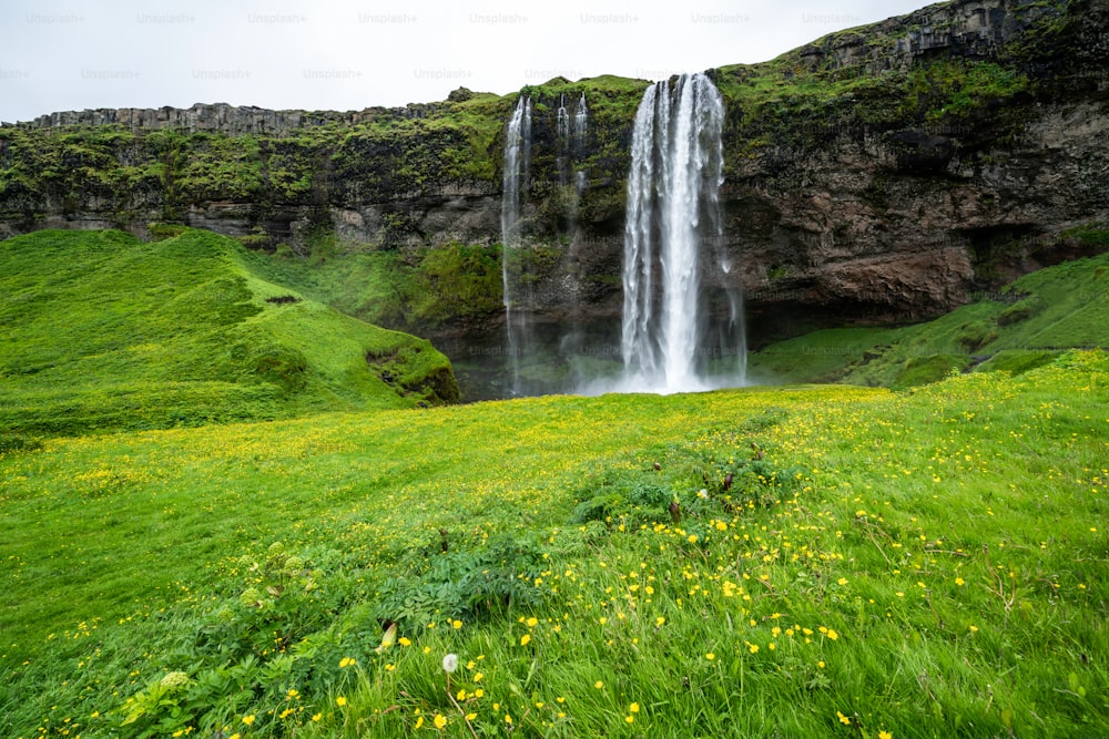
{"type": "Polygon", "coordinates": [[[265,261],[0,244],[0,736],[1109,736],[1106,257],[752,363],[854,386],[465,407],[265,261]]]}

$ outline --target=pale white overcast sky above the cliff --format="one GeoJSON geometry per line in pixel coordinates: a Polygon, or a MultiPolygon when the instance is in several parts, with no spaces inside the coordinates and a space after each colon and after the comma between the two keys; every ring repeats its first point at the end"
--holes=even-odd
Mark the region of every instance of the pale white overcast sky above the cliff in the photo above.
{"type": "Polygon", "coordinates": [[[0,121],[87,107],[362,110],[561,74],[759,62],[926,0],[4,0],[0,121]]]}

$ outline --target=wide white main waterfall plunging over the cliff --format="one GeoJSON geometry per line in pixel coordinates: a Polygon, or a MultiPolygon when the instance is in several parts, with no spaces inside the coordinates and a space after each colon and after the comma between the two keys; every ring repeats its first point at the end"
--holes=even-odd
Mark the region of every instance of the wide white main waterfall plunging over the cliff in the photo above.
{"type": "MultiPolygon", "coordinates": [[[[742,369],[713,381],[709,355],[745,363],[742,297],[731,300],[732,336],[704,342],[701,295],[705,246],[723,253],[719,189],[723,183],[724,104],[704,74],[658,82],[635,113],[624,226],[621,389],[647,392],[742,384],[742,369]]],[[[730,269],[723,257],[720,266],[730,269]]]]}

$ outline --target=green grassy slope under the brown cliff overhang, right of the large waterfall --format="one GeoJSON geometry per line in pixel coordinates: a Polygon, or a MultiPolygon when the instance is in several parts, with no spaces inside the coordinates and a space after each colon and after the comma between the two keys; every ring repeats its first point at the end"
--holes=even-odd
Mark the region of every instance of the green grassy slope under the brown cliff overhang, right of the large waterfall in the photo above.
{"type": "MultiPolygon", "coordinates": [[[[1109,232],[1082,230],[1109,243],[1109,232]]],[[[757,381],[907,388],[953,371],[1026,372],[1068,349],[1109,348],[1109,254],[1047,267],[987,299],[902,328],[838,328],[751,357],[757,381]]]]}

